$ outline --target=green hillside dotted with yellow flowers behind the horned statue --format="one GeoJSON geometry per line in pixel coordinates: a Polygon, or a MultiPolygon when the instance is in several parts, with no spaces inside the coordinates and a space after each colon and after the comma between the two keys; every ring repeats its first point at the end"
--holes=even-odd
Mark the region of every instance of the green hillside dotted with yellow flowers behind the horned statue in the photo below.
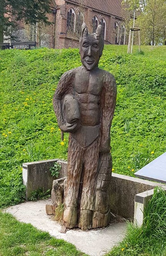
{"type": "MultiPolygon", "coordinates": [[[[114,74],[113,169],[134,172],[166,151],[166,47],[105,46],[100,68],[114,74]]],[[[61,75],[81,65],[78,49],[0,51],[0,207],[24,198],[22,163],[67,159],[52,96],[61,75]]]]}

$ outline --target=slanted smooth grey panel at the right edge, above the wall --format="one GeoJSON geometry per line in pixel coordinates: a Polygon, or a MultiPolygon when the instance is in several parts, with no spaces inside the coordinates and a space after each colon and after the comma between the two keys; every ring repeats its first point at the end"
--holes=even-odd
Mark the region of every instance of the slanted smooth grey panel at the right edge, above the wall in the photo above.
{"type": "Polygon", "coordinates": [[[154,180],[166,184],[166,152],[160,157],[135,172],[135,176],[146,180],[154,180]]]}

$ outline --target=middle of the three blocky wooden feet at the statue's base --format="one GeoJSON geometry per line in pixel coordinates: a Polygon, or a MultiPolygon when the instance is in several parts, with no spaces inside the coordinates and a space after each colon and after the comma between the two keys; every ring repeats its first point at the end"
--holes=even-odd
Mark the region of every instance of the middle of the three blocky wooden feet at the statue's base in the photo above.
{"type": "Polygon", "coordinates": [[[92,229],[92,211],[91,210],[80,211],[78,226],[80,229],[92,229]]]}

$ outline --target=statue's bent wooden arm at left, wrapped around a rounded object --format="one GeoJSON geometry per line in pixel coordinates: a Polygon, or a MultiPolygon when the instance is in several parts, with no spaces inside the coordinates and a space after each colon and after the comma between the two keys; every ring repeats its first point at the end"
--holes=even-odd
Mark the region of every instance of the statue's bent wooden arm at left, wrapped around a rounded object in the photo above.
{"type": "Polygon", "coordinates": [[[53,108],[57,116],[58,126],[63,132],[72,132],[76,128],[77,124],[69,124],[63,117],[62,110],[62,100],[66,94],[73,94],[73,82],[74,82],[74,72],[75,70],[70,70],[61,76],[60,81],[57,85],[57,90],[55,91],[53,97],[53,108]]]}

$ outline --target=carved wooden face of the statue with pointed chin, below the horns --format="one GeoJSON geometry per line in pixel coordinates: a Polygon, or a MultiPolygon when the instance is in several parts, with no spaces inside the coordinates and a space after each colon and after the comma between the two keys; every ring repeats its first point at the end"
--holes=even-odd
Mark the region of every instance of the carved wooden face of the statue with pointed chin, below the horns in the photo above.
{"type": "Polygon", "coordinates": [[[83,35],[80,45],[81,62],[87,70],[98,67],[100,59],[100,41],[95,34],[83,35]]]}

